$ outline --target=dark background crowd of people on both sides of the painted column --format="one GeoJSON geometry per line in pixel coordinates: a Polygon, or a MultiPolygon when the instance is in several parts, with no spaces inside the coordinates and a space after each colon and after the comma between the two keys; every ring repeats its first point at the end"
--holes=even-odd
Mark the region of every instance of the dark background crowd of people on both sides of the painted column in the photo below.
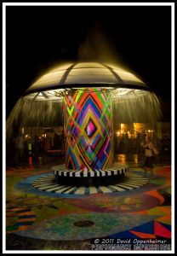
{"type": "MultiPolygon", "coordinates": [[[[169,159],[171,154],[171,142],[167,135],[159,139],[155,133],[146,134],[139,133],[136,137],[128,137],[128,133],[124,133],[120,137],[114,137],[114,152],[115,154],[144,154],[146,148],[146,138],[151,138],[151,145],[156,148],[158,154],[155,161],[164,162],[169,159]]],[[[20,133],[14,137],[14,161],[20,162],[22,158],[26,158],[29,154],[29,143],[31,143],[31,154],[35,162],[39,161],[39,157],[46,157],[49,150],[61,149],[65,150],[65,137],[54,133],[43,136],[28,136],[23,137],[20,133]]],[[[151,146],[150,146],[151,148],[151,146]]]]}

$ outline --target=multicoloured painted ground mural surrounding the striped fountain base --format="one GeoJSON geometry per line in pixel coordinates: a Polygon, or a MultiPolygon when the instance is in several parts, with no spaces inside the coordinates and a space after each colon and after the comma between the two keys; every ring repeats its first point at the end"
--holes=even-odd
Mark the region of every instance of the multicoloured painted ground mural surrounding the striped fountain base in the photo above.
{"type": "MultiPolygon", "coordinates": [[[[142,176],[143,170],[131,167],[129,173],[142,176]]],[[[90,195],[47,193],[31,185],[49,175],[42,166],[7,170],[7,250],[91,250],[92,240],[101,237],[170,241],[170,166],[156,166],[143,186],[90,195]]]]}

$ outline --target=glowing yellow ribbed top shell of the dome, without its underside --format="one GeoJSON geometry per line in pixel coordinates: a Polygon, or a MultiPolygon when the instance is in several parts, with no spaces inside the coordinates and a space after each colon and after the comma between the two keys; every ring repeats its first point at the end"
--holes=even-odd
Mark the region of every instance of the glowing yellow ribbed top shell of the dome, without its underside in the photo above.
{"type": "MultiPolygon", "coordinates": [[[[134,74],[120,67],[95,62],[70,63],[55,67],[27,90],[49,90],[52,88],[66,88],[73,84],[110,84],[123,85],[123,87],[137,86],[145,89],[144,84],[134,74]]],[[[90,86],[90,85],[89,85],[90,86]]]]}

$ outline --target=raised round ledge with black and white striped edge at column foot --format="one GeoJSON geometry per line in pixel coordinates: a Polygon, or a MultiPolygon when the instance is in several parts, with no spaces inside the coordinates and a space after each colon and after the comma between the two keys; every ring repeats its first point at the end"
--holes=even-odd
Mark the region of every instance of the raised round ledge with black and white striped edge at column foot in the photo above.
{"type": "Polygon", "coordinates": [[[107,169],[94,169],[94,170],[68,170],[65,165],[53,166],[55,177],[107,177],[118,176],[128,172],[127,165],[115,164],[107,169]]]}

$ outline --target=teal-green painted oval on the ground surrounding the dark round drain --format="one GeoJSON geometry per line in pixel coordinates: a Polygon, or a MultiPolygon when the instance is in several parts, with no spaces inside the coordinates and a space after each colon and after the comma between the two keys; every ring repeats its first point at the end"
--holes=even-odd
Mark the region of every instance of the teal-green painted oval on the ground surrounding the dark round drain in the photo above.
{"type": "Polygon", "coordinates": [[[71,213],[33,224],[30,230],[15,232],[16,235],[44,240],[83,240],[95,237],[111,236],[112,234],[132,229],[134,226],[146,224],[157,218],[152,215],[131,215],[117,213],[84,212],[71,213]],[[87,227],[75,225],[78,221],[94,222],[87,227]]]}

